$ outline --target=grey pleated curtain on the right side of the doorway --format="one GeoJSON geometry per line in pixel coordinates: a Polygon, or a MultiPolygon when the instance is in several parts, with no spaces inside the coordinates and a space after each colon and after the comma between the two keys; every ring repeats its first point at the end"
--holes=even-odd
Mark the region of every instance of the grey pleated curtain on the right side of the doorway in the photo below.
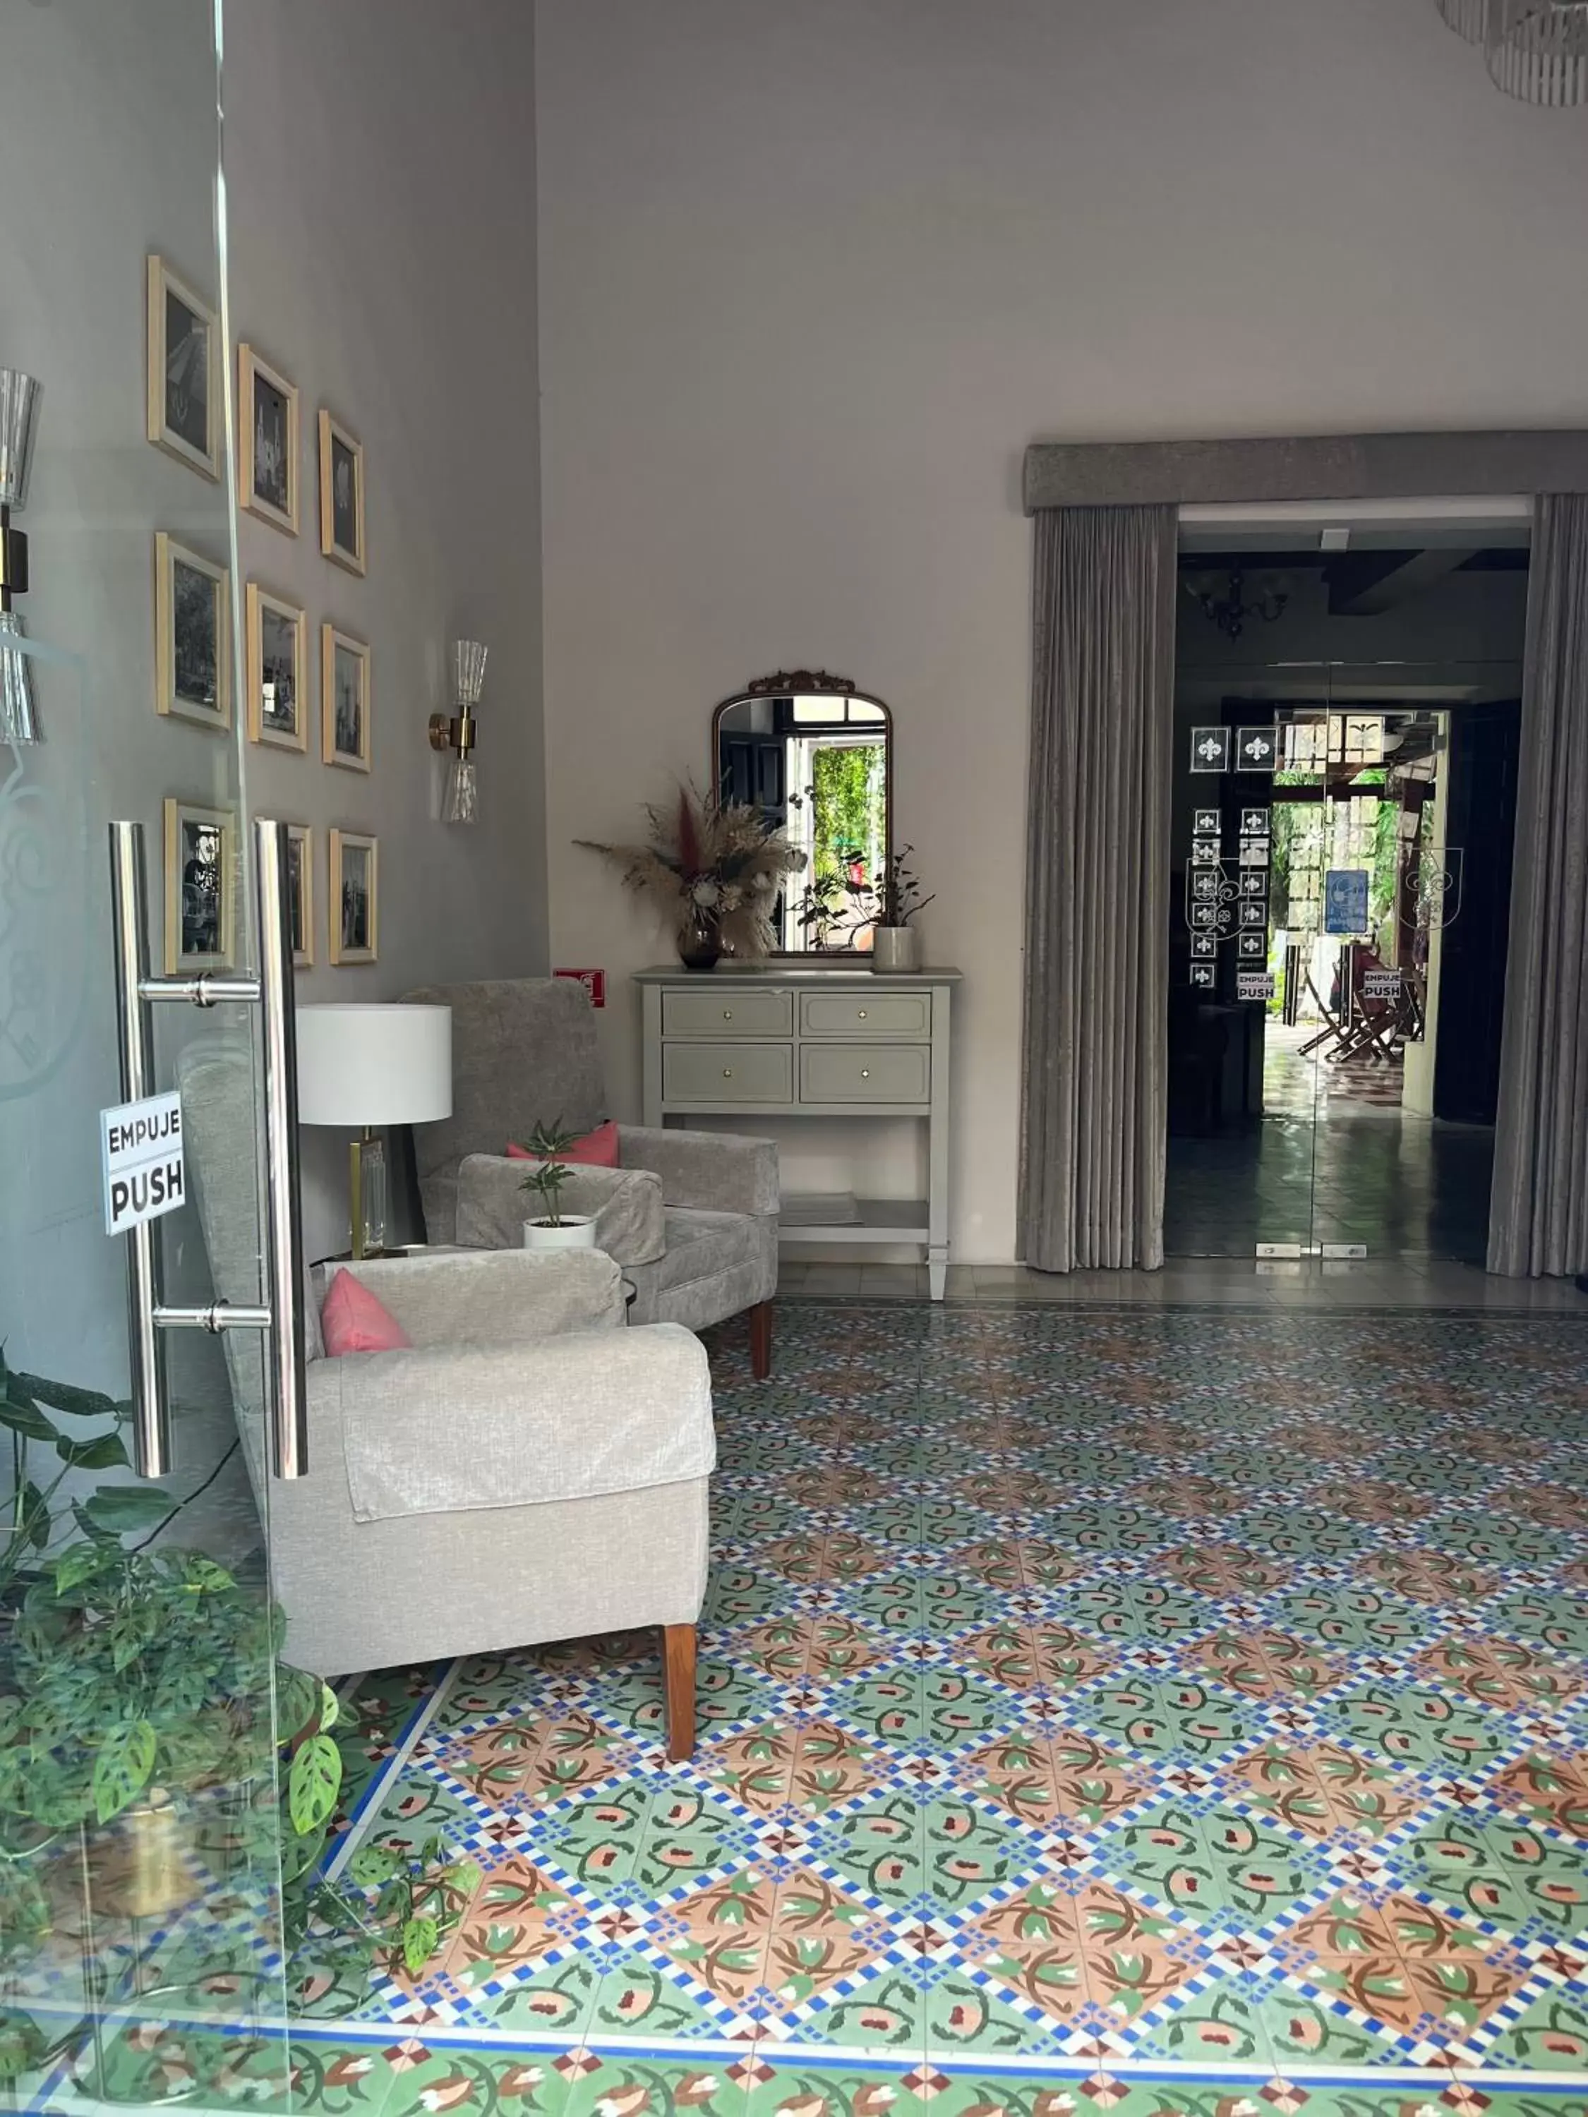
{"type": "Polygon", "coordinates": [[[1588,493],[1533,514],[1488,1270],[1588,1268],[1588,493]]]}

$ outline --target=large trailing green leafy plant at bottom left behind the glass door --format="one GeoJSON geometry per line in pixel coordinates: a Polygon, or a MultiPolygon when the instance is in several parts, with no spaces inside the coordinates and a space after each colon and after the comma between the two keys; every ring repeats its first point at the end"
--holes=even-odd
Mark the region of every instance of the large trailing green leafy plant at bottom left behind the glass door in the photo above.
{"type": "MultiPolygon", "coordinates": [[[[313,1935],[362,1969],[385,1952],[417,1975],[449,1931],[436,1905],[466,1869],[436,1869],[438,1848],[426,1848],[396,1867],[387,1854],[364,1886],[322,1878],[343,1783],[337,1696],[279,1658],[284,1620],[258,1586],[199,1552],[148,1550],[184,1501],[148,1484],[68,1484],[127,1465],[127,1404],[19,1374],[0,1351],[13,1452],[0,1531],[0,1967],[51,1931],[57,1848],[169,1802],[197,1827],[252,1785],[263,1799],[243,1802],[241,1819],[227,1808],[227,1821],[243,1852],[273,1865],[279,1848],[290,1946],[313,1935]]],[[[6,2024],[0,2081],[36,2064],[36,2045],[25,2024],[6,2024]]]]}

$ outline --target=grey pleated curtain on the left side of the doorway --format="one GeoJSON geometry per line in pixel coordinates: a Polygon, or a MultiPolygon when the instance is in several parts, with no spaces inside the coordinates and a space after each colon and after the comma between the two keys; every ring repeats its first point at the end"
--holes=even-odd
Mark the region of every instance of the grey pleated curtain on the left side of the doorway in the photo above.
{"type": "Polygon", "coordinates": [[[1156,1268],[1177,510],[1035,521],[1021,1255],[1156,1268]]]}

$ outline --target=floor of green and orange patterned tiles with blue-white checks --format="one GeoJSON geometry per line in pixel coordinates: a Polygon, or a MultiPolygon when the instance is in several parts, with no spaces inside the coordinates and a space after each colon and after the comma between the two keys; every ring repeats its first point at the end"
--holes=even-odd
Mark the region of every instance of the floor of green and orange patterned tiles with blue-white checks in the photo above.
{"type": "MultiPolygon", "coordinates": [[[[650,1639],[360,1683],[354,1829],[485,1880],[417,1988],[299,1994],[299,2098],[1588,2117],[1586,1355],[792,1304],[756,1387],[724,1338],[694,1763],[650,1639]]],[[[258,2066],[112,2058],[188,2106],[258,2066]]]]}

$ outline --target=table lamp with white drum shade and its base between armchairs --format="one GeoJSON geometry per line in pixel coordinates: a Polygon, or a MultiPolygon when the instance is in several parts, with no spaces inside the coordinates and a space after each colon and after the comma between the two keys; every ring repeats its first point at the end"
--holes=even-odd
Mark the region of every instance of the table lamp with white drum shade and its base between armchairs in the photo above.
{"type": "Polygon", "coordinates": [[[385,1141],[377,1126],[434,1124],[451,1114],[451,1008],[299,1008],[299,1124],[358,1133],[347,1150],[356,1257],[385,1249],[385,1141]]]}

